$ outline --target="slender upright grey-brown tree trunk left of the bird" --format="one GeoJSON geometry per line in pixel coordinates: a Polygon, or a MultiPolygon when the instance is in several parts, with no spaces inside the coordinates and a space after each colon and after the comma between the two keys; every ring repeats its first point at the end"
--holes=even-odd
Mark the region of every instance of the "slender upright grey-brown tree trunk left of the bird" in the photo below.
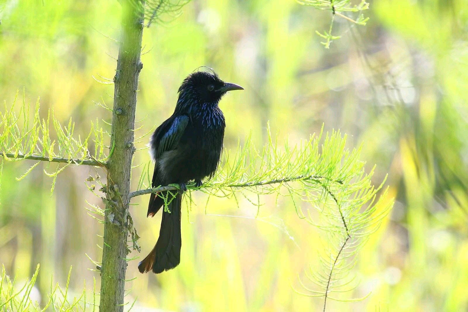
{"type": "Polygon", "coordinates": [[[111,151],[107,171],[107,203],[102,245],[100,311],[124,309],[127,266],[127,213],[130,202],[133,129],[137,104],[141,38],[144,17],[140,0],[121,0],[122,26],[117,70],[114,77],[111,151]]]}

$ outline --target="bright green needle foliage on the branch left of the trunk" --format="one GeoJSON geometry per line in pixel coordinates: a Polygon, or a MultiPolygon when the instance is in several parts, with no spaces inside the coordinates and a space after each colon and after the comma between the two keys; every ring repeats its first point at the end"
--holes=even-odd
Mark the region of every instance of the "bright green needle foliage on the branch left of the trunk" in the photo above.
{"type": "Polygon", "coordinates": [[[95,123],[91,122],[86,137],[76,137],[75,123],[71,118],[63,126],[55,118],[53,109],[49,109],[47,117],[41,119],[39,99],[31,107],[30,100],[26,101],[24,90],[22,104],[16,109],[18,94],[17,90],[11,106],[8,107],[4,101],[4,112],[0,111],[0,156],[7,161],[29,159],[37,162],[16,180],[24,179],[41,161],[55,162],[57,166],[52,172],[44,170],[52,178],[52,193],[57,175],[69,165],[105,166],[108,156],[104,149],[109,148],[104,144],[107,133],[99,127],[97,119],[95,123]]]}

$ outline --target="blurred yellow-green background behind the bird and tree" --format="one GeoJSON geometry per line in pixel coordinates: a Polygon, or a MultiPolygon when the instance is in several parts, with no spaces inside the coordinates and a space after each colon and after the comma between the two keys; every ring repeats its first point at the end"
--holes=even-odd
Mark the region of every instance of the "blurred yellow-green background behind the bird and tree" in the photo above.
{"type": "MultiPolygon", "coordinates": [[[[182,12],[144,30],[148,53],[137,120],[147,117],[139,133],[172,114],[177,88],[200,65],[245,87],[220,105],[228,149],[250,130],[261,145],[267,121],[291,142],[320,131],[322,123],[326,131],[341,129],[349,147],[364,142],[362,160],[369,170],[377,164],[374,183],[389,174],[395,206],[358,254],[361,283],[344,297],[371,295],[330,301],[327,311],[467,311],[468,2],[370,1],[366,26],[335,19],[333,34],[342,38],[329,50],[315,30],[328,30],[331,13],[292,0],[193,0],[182,12]]],[[[41,97],[44,117],[53,106],[59,120],[72,116],[82,135],[90,120],[110,121],[92,101],[102,97],[111,105],[113,86],[92,76],[114,76],[117,1],[0,0],[0,21],[1,100],[11,104],[25,87],[32,102],[41,97]]],[[[140,151],[134,164],[148,160],[140,151]]],[[[85,253],[97,261],[101,255],[96,244],[103,227],[83,208],[85,200],[101,204],[84,183],[96,173],[67,168],[50,196],[45,164],[15,181],[31,165],[3,168],[0,262],[11,275],[19,268],[20,280],[40,263],[39,300],[51,274],[63,285],[73,266],[70,291],[80,293],[83,280],[90,288],[96,276],[85,253]]],[[[137,197],[133,203],[141,205],[131,210],[141,256],[154,246],[161,219],[146,219],[148,197],[137,197]]],[[[154,276],[140,275],[138,260],[130,262],[127,278],[138,278],[127,283],[133,289],[126,299],[138,296],[136,311],[322,309],[321,298],[300,296],[290,286],[300,290],[297,274],[316,263],[316,229],[297,217],[292,203],[264,201],[262,222],[205,215],[205,197],[196,195],[190,215],[183,209],[181,264],[154,276]]],[[[256,207],[213,198],[207,212],[255,217],[256,207]]]]}

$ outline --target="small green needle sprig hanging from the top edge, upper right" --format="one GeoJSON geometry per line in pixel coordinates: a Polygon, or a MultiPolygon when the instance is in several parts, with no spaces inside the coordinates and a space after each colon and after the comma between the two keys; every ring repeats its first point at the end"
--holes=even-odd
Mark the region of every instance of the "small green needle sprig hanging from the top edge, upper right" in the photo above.
{"type": "Polygon", "coordinates": [[[325,42],[322,44],[325,46],[326,49],[330,48],[330,44],[333,40],[341,38],[341,36],[334,36],[331,34],[333,29],[333,23],[335,22],[335,16],[339,16],[344,18],[345,20],[352,22],[356,25],[366,25],[366,22],[369,20],[368,17],[364,17],[362,11],[367,10],[369,8],[369,3],[365,0],[361,0],[359,4],[352,4],[351,0],[296,0],[299,4],[305,6],[311,6],[319,10],[329,10],[332,14],[330,27],[327,30],[323,31],[323,34],[319,31],[315,31],[317,35],[321,36],[325,39],[325,42]],[[358,13],[356,18],[351,18],[345,13],[358,13]]]}

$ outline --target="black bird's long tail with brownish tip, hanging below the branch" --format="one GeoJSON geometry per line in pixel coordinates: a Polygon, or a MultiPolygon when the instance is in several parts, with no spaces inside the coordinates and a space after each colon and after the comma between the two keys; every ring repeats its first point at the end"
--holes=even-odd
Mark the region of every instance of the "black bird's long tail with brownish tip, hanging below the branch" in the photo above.
{"type": "Polygon", "coordinates": [[[162,212],[159,238],[151,253],[138,265],[140,273],[153,270],[158,274],[175,268],[180,263],[182,237],[180,232],[180,215],[182,194],[178,193],[169,203],[169,212],[162,212]]]}

